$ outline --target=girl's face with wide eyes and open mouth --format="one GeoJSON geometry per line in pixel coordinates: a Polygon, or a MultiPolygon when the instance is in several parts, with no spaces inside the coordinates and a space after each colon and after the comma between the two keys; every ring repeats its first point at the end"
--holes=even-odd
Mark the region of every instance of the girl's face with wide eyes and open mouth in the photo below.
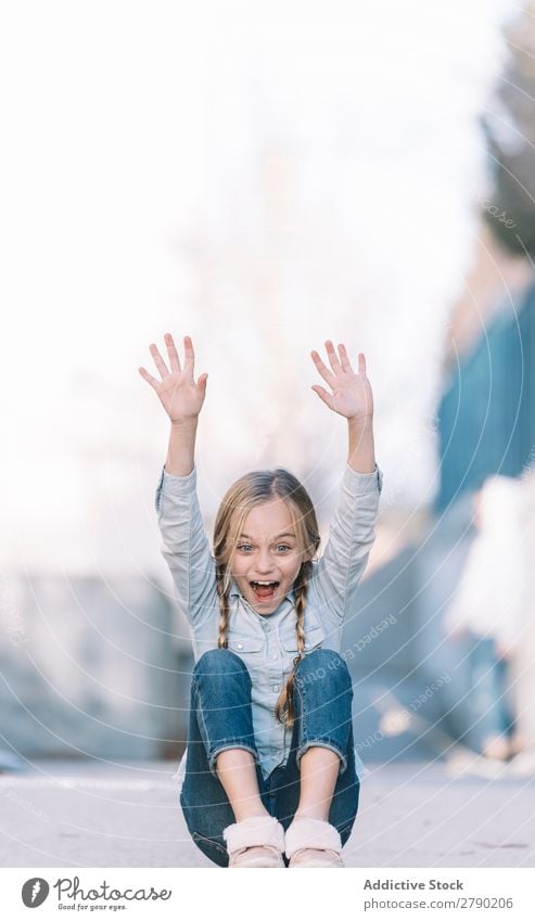
{"type": "Polygon", "coordinates": [[[304,560],[289,507],[269,499],[246,516],[231,558],[235,583],[258,614],[273,614],[292,589],[304,560]]]}

